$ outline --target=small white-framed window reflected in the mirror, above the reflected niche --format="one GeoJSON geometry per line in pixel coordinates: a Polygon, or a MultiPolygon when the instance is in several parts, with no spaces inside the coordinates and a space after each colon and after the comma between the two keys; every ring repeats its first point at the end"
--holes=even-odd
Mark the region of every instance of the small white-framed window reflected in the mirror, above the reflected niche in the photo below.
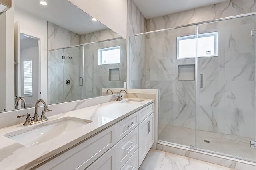
{"type": "Polygon", "coordinates": [[[98,49],[98,65],[120,63],[120,46],[98,49]]]}

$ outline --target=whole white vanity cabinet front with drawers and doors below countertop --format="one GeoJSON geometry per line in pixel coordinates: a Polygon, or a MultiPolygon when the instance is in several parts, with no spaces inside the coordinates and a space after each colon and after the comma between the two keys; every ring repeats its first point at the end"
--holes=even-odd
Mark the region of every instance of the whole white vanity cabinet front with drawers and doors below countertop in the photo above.
{"type": "Polygon", "coordinates": [[[138,170],[153,144],[153,112],[152,103],[33,169],[138,170]]]}

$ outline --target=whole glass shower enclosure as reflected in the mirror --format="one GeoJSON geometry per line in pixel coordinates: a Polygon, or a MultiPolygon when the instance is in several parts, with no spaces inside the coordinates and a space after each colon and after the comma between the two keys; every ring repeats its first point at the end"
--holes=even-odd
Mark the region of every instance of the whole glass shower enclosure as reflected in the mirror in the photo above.
{"type": "Polygon", "coordinates": [[[101,96],[102,88],[122,88],[126,82],[125,54],[123,38],[50,50],[48,103],[101,96]],[[99,64],[98,50],[116,46],[120,47],[119,63],[99,64]]]}

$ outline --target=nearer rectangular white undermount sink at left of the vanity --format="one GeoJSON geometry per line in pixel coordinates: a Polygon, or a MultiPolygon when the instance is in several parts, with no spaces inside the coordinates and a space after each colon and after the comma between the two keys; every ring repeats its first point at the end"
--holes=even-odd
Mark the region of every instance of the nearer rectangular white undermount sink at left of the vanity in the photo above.
{"type": "Polygon", "coordinates": [[[53,121],[46,121],[42,124],[39,123],[33,127],[6,133],[4,136],[29,147],[69,133],[89,123],[92,123],[92,121],[76,117],[63,117],[53,121]]]}

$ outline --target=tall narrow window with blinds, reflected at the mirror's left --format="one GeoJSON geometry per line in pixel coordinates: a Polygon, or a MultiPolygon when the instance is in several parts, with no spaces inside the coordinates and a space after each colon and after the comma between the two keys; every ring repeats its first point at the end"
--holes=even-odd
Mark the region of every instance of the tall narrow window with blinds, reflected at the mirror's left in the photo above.
{"type": "Polygon", "coordinates": [[[24,94],[33,94],[33,81],[32,81],[32,60],[23,61],[23,84],[24,94]]]}

